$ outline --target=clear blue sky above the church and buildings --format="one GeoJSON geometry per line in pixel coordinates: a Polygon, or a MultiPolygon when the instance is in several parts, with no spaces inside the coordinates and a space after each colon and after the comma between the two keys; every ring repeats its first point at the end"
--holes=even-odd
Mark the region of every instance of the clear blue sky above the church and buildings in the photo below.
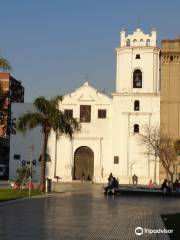
{"type": "Polygon", "coordinates": [[[0,56],[25,87],[25,102],[65,95],[88,82],[115,90],[122,29],[180,36],[179,0],[0,0],[0,56]]]}

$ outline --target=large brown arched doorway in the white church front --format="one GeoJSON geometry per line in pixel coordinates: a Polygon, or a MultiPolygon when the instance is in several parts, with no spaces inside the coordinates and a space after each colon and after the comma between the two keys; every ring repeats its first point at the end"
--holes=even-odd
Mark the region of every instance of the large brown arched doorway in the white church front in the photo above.
{"type": "Polygon", "coordinates": [[[74,179],[92,180],[94,174],[94,153],[86,146],[80,147],[74,154],[74,179]]]}

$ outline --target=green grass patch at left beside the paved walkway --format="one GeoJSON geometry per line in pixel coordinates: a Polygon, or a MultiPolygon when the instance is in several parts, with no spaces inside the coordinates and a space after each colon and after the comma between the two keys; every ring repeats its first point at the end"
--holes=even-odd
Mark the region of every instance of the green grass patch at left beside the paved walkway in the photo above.
{"type": "MultiPolygon", "coordinates": [[[[41,192],[38,190],[32,190],[31,196],[40,195],[41,192]]],[[[0,202],[11,201],[19,198],[29,197],[28,189],[16,190],[16,189],[0,189],[0,202]]]]}

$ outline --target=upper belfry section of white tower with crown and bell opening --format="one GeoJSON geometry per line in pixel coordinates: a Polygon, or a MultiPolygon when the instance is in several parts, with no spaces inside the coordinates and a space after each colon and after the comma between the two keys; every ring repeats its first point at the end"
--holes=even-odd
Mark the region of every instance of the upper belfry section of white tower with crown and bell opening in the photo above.
{"type": "Polygon", "coordinates": [[[140,28],[127,35],[120,33],[116,49],[116,93],[159,92],[159,49],[156,31],[145,34],[140,28]]]}

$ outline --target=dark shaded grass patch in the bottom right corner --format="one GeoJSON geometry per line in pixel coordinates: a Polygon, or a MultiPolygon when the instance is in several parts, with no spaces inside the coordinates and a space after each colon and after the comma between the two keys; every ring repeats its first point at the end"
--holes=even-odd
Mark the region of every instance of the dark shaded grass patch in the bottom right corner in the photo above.
{"type": "Polygon", "coordinates": [[[173,233],[169,234],[171,240],[180,239],[180,213],[175,214],[162,214],[162,220],[166,229],[173,229],[173,233]]]}

